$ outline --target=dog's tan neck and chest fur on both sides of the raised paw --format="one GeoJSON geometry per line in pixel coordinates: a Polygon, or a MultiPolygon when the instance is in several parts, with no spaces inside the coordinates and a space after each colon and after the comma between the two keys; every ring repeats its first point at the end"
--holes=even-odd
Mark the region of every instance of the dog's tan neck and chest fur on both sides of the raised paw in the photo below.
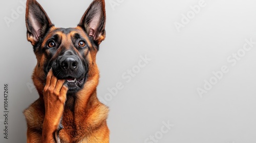
{"type": "MultiPolygon", "coordinates": [[[[64,128],[59,132],[61,142],[109,142],[109,129],[106,126],[109,109],[97,99],[96,87],[99,81],[99,71],[95,64],[96,55],[94,54],[91,52],[88,54],[88,60],[91,61],[89,76],[84,88],[77,94],[77,102],[74,103],[72,98],[66,102],[62,117],[64,128]],[[75,107],[74,111],[70,110],[72,106],[75,107]]],[[[39,60],[39,62],[43,61],[39,60]]],[[[38,137],[41,137],[45,115],[44,99],[40,92],[45,87],[42,84],[45,81],[40,78],[45,76],[42,73],[41,69],[36,66],[32,77],[40,98],[24,111],[28,124],[28,142],[33,142],[29,141],[30,138],[39,140],[38,137]]]]}

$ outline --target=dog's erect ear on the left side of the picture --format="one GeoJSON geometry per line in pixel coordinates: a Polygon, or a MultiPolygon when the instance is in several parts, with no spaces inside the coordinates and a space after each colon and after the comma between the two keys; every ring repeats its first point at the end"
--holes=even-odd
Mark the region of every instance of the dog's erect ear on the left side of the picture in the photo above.
{"type": "Polygon", "coordinates": [[[26,26],[27,38],[32,45],[53,26],[44,9],[35,0],[27,0],[26,26]]]}

